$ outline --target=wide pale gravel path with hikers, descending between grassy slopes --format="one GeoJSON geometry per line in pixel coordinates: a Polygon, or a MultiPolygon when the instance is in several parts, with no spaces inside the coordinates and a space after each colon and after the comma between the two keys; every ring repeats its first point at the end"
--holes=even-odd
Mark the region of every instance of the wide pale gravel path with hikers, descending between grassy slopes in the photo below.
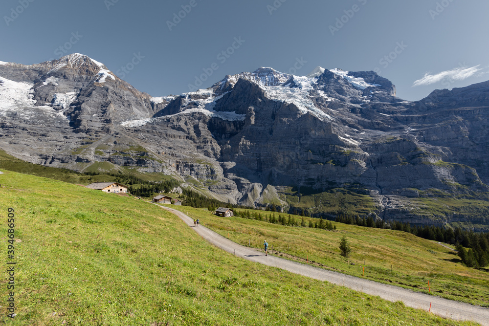
{"type": "Polygon", "coordinates": [[[239,245],[202,225],[194,227],[194,222],[191,217],[188,217],[184,213],[173,208],[162,208],[180,217],[188,226],[193,227],[194,231],[202,236],[203,239],[206,239],[223,250],[238,257],[242,257],[248,261],[259,262],[261,264],[282,268],[288,270],[289,272],[307,276],[316,280],[328,281],[330,283],[346,286],[359,292],[379,296],[380,298],[388,301],[402,301],[406,306],[416,309],[429,310],[431,304],[431,312],[444,318],[454,320],[469,320],[480,323],[481,325],[489,326],[489,309],[487,308],[447,300],[420,292],[414,292],[398,286],[376,283],[354,276],[289,261],[275,256],[268,255],[266,257],[263,250],[257,250],[239,245]]]}

